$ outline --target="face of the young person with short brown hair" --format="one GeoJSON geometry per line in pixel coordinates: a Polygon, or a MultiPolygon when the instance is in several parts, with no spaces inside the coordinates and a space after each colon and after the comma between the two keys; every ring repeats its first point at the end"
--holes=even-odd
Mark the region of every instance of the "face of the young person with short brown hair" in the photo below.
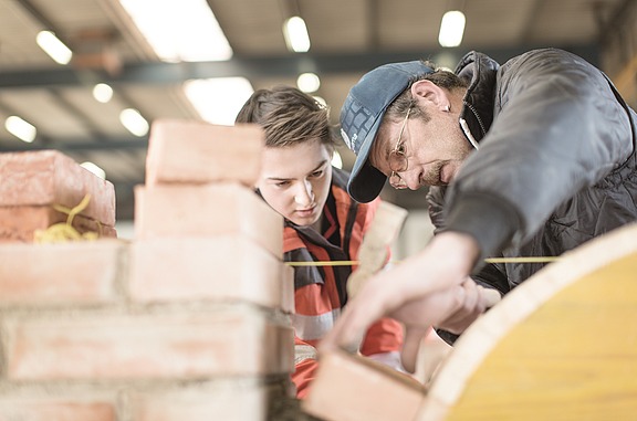
{"type": "Polygon", "coordinates": [[[332,182],[332,150],[318,139],[267,147],[257,188],[268,204],[297,225],[318,221],[332,182]]]}

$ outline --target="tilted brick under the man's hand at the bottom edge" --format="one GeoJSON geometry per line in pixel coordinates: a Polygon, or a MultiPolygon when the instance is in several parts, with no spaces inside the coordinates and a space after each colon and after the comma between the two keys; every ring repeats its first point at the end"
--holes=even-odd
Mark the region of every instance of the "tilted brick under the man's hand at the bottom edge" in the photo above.
{"type": "Polygon", "coordinates": [[[302,408],[338,421],[415,420],[426,390],[407,375],[342,351],[320,356],[316,377],[302,408]]]}

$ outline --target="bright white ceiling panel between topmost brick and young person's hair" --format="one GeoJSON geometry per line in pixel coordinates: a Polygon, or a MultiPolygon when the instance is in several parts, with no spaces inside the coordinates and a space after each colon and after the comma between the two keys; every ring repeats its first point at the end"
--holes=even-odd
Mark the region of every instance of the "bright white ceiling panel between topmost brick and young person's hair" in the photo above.
{"type": "Polygon", "coordinates": [[[232,126],[237,114],[254,88],[244,77],[215,77],[187,81],[184,93],[202,119],[232,126]]]}

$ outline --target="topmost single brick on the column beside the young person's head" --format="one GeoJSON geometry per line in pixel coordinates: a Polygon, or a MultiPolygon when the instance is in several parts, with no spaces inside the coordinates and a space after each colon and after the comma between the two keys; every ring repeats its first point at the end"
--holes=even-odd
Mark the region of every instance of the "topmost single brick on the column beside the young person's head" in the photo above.
{"type": "Polygon", "coordinates": [[[146,183],[240,181],[254,186],[264,144],[258,125],[155,120],[148,140],[146,183]]]}

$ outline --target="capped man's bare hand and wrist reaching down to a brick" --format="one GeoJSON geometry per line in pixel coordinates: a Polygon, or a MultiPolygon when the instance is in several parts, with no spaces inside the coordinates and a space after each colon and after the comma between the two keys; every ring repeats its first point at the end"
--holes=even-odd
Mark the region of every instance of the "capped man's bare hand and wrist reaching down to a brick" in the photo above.
{"type": "Polygon", "coordinates": [[[478,256],[478,244],[467,234],[445,232],[435,236],[419,254],[370,277],[345,306],[320,350],[356,348],[367,328],[383,316],[413,326],[447,319],[463,303],[458,288],[462,288],[478,256]],[[435,293],[446,298],[430,296],[435,293]]]}

